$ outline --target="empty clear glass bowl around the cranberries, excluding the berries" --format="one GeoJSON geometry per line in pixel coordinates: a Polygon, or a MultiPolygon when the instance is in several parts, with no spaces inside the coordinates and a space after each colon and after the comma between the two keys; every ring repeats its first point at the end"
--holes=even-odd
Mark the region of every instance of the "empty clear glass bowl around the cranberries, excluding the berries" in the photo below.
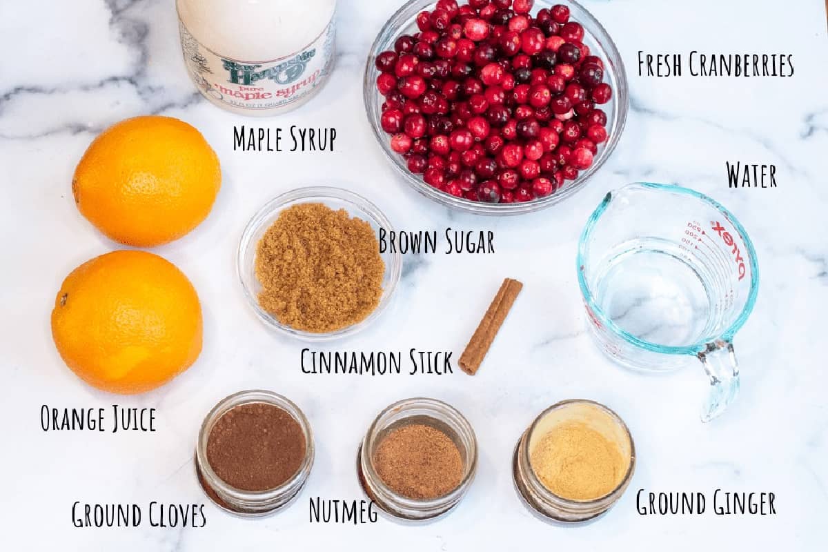
{"type": "MultiPolygon", "coordinates": [[[[461,0],[460,3],[465,2],[461,0]]],[[[383,96],[379,94],[377,89],[376,83],[379,70],[374,65],[374,59],[379,53],[384,50],[393,50],[394,42],[397,41],[399,36],[413,34],[417,31],[416,16],[418,13],[426,9],[431,9],[436,4],[434,0],[410,0],[410,2],[407,2],[386,22],[382,31],[379,31],[377,40],[374,41],[371,47],[371,52],[368,54],[368,62],[365,65],[363,98],[365,101],[365,111],[368,113],[368,121],[373,128],[374,137],[377,138],[377,142],[383,148],[385,155],[388,157],[388,161],[391,161],[392,166],[414,190],[425,195],[427,198],[434,199],[440,204],[474,214],[507,215],[531,213],[532,211],[544,209],[561,202],[570,197],[570,195],[575,194],[585,184],[586,180],[589,180],[604,165],[604,162],[607,161],[607,158],[609,158],[609,155],[615,149],[615,146],[618,145],[624,124],[627,120],[627,112],[629,110],[627,74],[624,72],[621,55],[607,31],[579,3],[571,2],[570,0],[537,0],[535,7],[532,9],[532,13],[537,13],[538,10],[544,7],[554,6],[557,3],[569,6],[570,18],[584,26],[584,44],[590,47],[590,53],[592,55],[597,55],[601,60],[604,60],[604,82],[609,83],[613,87],[613,98],[608,103],[598,106],[607,113],[606,128],[609,139],[603,145],[599,145],[598,154],[595,156],[592,166],[587,170],[581,171],[576,180],[566,180],[561,189],[557,190],[554,194],[548,195],[545,198],[527,201],[526,203],[513,204],[487,204],[465,198],[457,198],[453,195],[445,194],[445,192],[441,192],[431,185],[427,185],[422,180],[421,175],[412,174],[407,168],[405,159],[391,149],[391,137],[383,131],[383,127],[380,125],[380,117],[383,114],[383,96]]]]}

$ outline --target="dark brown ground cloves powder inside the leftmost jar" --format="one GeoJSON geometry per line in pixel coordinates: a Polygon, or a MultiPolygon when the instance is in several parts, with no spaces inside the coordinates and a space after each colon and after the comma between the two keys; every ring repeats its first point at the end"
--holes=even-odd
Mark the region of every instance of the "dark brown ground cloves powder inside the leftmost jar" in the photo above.
{"type": "Polygon", "coordinates": [[[219,478],[242,491],[267,491],[293,477],[305,459],[305,434],[278,406],[235,406],[207,438],[207,462],[219,478]]]}

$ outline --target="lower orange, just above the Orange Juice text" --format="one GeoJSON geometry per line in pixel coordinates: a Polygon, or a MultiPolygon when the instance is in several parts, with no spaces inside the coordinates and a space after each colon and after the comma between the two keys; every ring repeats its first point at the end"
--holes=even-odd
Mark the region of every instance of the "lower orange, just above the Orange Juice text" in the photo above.
{"type": "Polygon", "coordinates": [[[116,251],[66,276],[51,314],[60,357],[84,382],[141,393],[201,352],[201,305],[187,276],[152,253],[116,251]]]}

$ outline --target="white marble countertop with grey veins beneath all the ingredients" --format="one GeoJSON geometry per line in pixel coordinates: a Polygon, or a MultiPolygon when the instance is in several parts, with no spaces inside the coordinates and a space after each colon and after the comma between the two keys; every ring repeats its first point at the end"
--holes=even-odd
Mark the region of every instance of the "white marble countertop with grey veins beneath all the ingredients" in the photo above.
{"type": "Polygon", "coordinates": [[[181,60],[172,0],[0,2],[0,526],[6,550],[822,550],[828,532],[828,376],[819,353],[828,308],[828,42],[823,2],[585,1],[619,46],[632,108],[618,149],[574,198],[519,218],[476,218],[422,198],[399,180],[362,107],[368,46],[400,0],[339,2],[335,73],[312,102],[252,120],[210,105],[181,60]],[[637,52],[790,53],[789,79],[647,79],[637,52]],[[60,281],[117,248],[78,213],[70,179],[104,127],[142,113],[194,124],[219,153],[224,184],[212,214],[156,252],[190,276],[205,314],[199,361],[142,396],[94,391],[51,341],[60,281]],[[234,124],[336,127],[335,153],[233,151],[234,124]],[[778,187],[728,190],[725,161],[773,163],[778,187]],[[719,199],[758,248],[758,305],[735,339],[739,401],[702,425],[687,391],[696,372],[648,378],[595,348],[575,279],[575,244],[607,192],[636,180],[679,183],[719,199]],[[342,185],[397,228],[493,229],[493,256],[406,259],[392,309],[349,350],[453,350],[504,276],[526,287],[479,374],[312,377],[303,345],[271,334],[243,300],[233,266],[238,238],[267,199],[315,184],[342,185]],[[266,388],[298,403],[315,431],[316,462],[299,502],[260,521],[212,506],[192,469],[205,413],[231,392],[266,388]],[[434,396],[469,418],[477,478],[460,506],[427,526],[311,525],[308,498],[363,498],[354,453],[373,416],[407,396],[434,396]],[[630,491],[590,526],[548,526],[513,489],[518,436],[546,406],[602,401],[627,421],[638,449],[630,491]],[[49,432],[41,405],[157,408],[152,434],[49,432]],[[776,516],[639,516],[638,489],[774,492],[776,516]],[[200,529],[79,529],[71,506],[205,502],[200,529]]]}

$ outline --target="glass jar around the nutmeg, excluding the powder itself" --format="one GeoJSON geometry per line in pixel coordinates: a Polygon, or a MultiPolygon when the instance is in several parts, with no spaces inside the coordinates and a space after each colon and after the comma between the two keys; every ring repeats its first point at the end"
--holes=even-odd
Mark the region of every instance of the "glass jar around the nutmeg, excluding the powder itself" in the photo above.
{"type": "Polygon", "coordinates": [[[357,474],[363,491],[397,521],[434,521],[451,511],[469,490],[477,472],[477,438],[469,420],[454,407],[436,399],[415,397],[398,401],[379,413],[359,445],[357,474]],[[388,433],[412,424],[431,425],[454,441],[463,460],[463,478],[451,492],[431,500],[403,497],[383,482],[373,455],[388,433]]]}

